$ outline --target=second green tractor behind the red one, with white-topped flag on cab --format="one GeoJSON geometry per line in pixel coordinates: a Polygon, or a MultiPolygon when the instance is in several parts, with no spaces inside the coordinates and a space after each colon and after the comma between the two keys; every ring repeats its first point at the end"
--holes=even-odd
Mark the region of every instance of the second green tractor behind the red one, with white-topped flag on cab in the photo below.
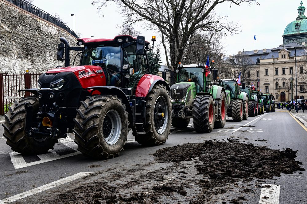
{"type": "Polygon", "coordinates": [[[227,116],[233,121],[247,120],[248,118],[248,97],[240,90],[236,79],[218,80],[219,86],[226,91],[227,116]]]}

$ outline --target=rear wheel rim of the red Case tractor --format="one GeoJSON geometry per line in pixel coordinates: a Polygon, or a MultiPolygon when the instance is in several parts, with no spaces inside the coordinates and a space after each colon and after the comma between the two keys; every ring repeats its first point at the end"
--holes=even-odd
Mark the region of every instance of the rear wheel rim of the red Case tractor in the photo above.
{"type": "Polygon", "coordinates": [[[168,109],[167,109],[167,104],[166,104],[166,100],[163,96],[159,96],[154,104],[154,113],[153,113],[153,117],[154,118],[154,126],[156,128],[156,131],[159,133],[159,134],[163,134],[166,130],[166,127],[167,127],[167,123],[168,123],[168,116],[169,116],[169,113],[168,113],[168,109]],[[164,116],[162,117],[162,110],[164,110],[163,114],[164,116]],[[157,122],[156,121],[161,121],[162,122],[163,120],[163,124],[162,125],[157,125],[157,122]],[[158,127],[157,127],[158,126],[158,127]]]}

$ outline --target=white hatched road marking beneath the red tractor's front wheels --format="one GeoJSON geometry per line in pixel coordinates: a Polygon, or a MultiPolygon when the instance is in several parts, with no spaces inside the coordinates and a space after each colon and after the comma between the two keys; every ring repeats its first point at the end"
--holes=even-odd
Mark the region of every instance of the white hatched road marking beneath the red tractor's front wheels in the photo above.
{"type": "Polygon", "coordinates": [[[64,139],[59,139],[59,142],[62,143],[63,145],[65,145],[66,147],[69,147],[73,150],[76,150],[76,152],[73,152],[73,153],[70,153],[70,154],[64,154],[64,155],[60,156],[54,150],[48,150],[48,153],[46,153],[46,154],[37,155],[37,157],[40,158],[41,160],[33,161],[33,162],[29,162],[29,163],[25,162],[25,159],[22,157],[21,154],[19,154],[17,152],[11,152],[10,157],[11,157],[11,161],[14,165],[14,168],[20,169],[20,168],[24,168],[24,167],[28,167],[28,166],[32,166],[32,165],[37,165],[37,164],[41,164],[41,163],[54,161],[54,160],[57,160],[57,159],[62,159],[62,158],[71,157],[71,156],[81,154],[81,152],[79,152],[77,150],[78,145],[70,137],[67,137],[67,138],[64,138],[64,139]]]}

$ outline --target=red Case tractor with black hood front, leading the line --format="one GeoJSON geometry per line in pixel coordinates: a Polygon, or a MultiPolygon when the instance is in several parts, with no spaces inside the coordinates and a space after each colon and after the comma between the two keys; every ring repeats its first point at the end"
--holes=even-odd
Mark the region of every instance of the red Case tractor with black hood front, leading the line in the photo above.
{"type": "Polygon", "coordinates": [[[130,129],[140,144],[165,143],[170,89],[149,74],[146,51],[153,48],[145,37],[84,38],[76,47],[60,41],[57,59],[65,67],[42,74],[37,89],[20,90],[32,96],[15,101],[5,115],[3,135],[12,150],[43,154],[74,132],[80,152],[113,158],[124,149],[130,129]],[[79,66],[70,66],[69,50],[80,51],[79,66]]]}

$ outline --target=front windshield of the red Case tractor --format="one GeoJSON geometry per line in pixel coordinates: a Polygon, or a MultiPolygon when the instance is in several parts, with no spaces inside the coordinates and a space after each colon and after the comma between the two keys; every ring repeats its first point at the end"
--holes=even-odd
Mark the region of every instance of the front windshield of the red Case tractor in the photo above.
{"type": "Polygon", "coordinates": [[[113,72],[120,71],[121,48],[120,46],[84,47],[80,65],[99,65],[113,72]]]}

